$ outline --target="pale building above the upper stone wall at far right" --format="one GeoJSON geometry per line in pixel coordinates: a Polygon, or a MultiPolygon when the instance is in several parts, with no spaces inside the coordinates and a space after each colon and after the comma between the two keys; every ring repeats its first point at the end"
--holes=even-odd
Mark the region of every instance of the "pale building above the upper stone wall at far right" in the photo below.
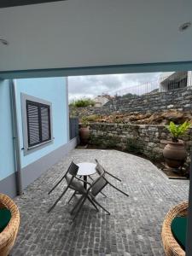
{"type": "Polygon", "coordinates": [[[165,72],[160,74],[160,91],[179,89],[192,85],[192,72],[165,72]]]}

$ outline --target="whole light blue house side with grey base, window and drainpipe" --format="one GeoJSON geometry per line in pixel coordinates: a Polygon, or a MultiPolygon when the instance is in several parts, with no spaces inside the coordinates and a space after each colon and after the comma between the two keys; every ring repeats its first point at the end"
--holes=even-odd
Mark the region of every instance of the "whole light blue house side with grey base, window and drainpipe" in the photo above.
{"type": "Polygon", "coordinates": [[[0,192],[15,196],[76,146],[67,79],[0,80],[0,192]]]}

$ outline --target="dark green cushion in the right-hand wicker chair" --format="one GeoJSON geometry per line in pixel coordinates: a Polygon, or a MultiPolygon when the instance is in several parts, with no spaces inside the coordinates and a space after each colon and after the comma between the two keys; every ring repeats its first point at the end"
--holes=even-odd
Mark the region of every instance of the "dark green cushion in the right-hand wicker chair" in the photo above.
{"type": "Polygon", "coordinates": [[[186,243],[186,230],[187,230],[187,218],[176,217],[172,220],[172,235],[176,239],[177,243],[185,250],[186,243]]]}

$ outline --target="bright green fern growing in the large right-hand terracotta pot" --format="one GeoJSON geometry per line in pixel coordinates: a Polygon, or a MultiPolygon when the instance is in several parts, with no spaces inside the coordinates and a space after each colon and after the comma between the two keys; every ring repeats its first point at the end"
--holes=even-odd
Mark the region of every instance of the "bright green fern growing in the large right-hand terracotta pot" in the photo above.
{"type": "Polygon", "coordinates": [[[183,135],[190,127],[190,123],[188,121],[185,121],[182,125],[175,125],[174,122],[170,122],[167,129],[172,134],[172,142],[177,143],[178,137],[183,135]]]}

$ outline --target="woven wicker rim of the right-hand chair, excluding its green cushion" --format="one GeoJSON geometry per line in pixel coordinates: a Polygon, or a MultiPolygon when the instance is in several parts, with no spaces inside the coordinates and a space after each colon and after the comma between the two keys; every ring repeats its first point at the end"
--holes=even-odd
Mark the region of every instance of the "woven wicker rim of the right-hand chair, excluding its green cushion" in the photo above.
{"type": "Polygon", "coordinates": [[[167,214],[162,226],[162,241],[166,256],[184,256],[183,248],[172,236],[171,224],[173,218],[186,216],[188,214],[188,202],[184,201],[173,207],[167,214]]]}

